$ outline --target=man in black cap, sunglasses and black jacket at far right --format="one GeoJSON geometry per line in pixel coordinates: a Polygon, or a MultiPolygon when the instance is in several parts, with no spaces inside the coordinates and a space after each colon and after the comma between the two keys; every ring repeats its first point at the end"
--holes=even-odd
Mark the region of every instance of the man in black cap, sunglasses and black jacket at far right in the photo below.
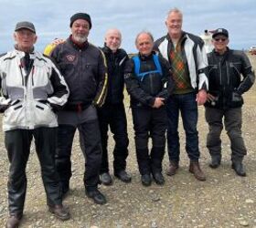
{"type": "Polygon", "coordinates": [[[239,176],[246,176],[242,164],[246,155],[241,136],[242,94],[251,88],[255,75],[251,70],[249,58],[242,51],[229,49],[228,30],[218,28],[212,35],[212,43],[214,49],[208,54],[208,102],[205,104],[209,126],[207,147],[211,156],[209,166],[216,169],[220,165],[220,134],[224,118],[225,129],[231,142],[232,169],[239,176]]]}

